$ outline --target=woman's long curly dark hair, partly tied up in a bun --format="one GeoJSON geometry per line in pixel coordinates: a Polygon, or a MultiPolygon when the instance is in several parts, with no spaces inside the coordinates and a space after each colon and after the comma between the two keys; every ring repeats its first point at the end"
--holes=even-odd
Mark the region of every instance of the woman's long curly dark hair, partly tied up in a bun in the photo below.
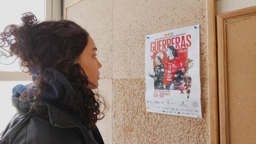
{"type": "MultiPolygon", "coordinates": [[[[74,62],[87,45],[87,31],[69,20],[38,22],[33,13],[22,14],[21,20],[20,26],[9,25],[0,34],[0,57],[16,55],[20,58],[22,71],[30,75],[36,69],[38,77],[34,82],[39,89],[49,87],[43,76],[43,67],[59,70],[73,86],[76,95],[52,104],[68,109],[85,126],[94,127],[97,120],[105,116],[99,108],[100,105],[105,107],[105,102],[87,88],[93,84],[88,81],[82,67],[74,62]]],[[[34,93],[33,99],[42,102],[37,96],[38,93],[34,93]]],[[[30,94],[22,97],[32,98],[30,94]]]]}

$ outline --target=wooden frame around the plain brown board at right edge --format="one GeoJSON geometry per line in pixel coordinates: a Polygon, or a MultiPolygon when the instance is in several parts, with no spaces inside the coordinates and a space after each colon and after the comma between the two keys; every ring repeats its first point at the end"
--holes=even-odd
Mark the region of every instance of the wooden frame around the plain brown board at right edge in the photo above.
{"type": "Polygon", "coordinates": [[[256,6],[217,15],[220,143],[229,143],[227,102],[226,21],[256,14],[256,6]]]}

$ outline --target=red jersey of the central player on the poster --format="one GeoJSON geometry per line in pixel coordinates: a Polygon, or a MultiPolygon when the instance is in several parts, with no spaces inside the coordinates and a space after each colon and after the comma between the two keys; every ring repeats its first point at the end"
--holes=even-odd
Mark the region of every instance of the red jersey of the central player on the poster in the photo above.
{"type": "Polygon", "coordinates": [[[178,69],[183,68],[183,63],[181,59],[174,58],[172,60],[166,60],[163,61],[163,65],[165,67],[165,73],[164,73],[164,85],[170,84],[173,79],[173,73],[175,73],[178,69]]]}

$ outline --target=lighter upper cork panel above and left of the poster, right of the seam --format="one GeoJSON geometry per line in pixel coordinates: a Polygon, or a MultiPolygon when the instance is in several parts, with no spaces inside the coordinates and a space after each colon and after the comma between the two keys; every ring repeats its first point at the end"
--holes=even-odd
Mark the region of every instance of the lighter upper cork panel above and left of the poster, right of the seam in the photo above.
{"type": "Polygon", "coordinates": [[[201,44],[205,44],[205,3],[113,1],[113,78],[145,78],[146,35],[199,24],[201,44]]]}

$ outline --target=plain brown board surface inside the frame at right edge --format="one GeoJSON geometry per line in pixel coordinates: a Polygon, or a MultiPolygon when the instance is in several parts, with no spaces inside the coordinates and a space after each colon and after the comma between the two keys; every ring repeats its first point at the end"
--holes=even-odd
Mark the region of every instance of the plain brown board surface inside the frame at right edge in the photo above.
{"type": "Polygon", "coordinates": [[[256,141],[256,14],[227,21],[227,97],[230,143],[256,141]]]}

